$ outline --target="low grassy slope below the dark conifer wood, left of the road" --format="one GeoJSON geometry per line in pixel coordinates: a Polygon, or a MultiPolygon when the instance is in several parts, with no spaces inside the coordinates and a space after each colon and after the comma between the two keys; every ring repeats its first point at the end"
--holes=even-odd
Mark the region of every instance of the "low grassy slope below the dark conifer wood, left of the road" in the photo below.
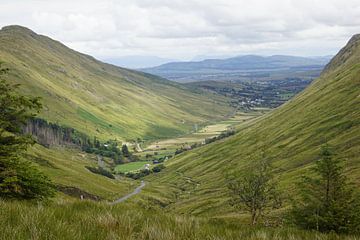
{"type": "Polygon", "coordinates": [[[28,151],[28,158],[35,162],[54,183],[72,186],[107,200],[114,200],[131,192],[135,181],[110,179],[87,170],[85,166],[97,166],[95,155],[76,149],[48,149],[35,145],[28,151]]]}

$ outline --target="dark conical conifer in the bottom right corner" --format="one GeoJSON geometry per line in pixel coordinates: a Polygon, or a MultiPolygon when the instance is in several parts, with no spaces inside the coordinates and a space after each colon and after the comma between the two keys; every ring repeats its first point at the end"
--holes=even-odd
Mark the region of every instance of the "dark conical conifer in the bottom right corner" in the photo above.
{"type": "Polygon", "coordinates": [[[360,229],[360,206],[349,183],[342,160],[329,145],[321,148],[320,159],[304,176],[300,199],[293,203],[290,220],[304,229],[350,233],[360,229]]]}

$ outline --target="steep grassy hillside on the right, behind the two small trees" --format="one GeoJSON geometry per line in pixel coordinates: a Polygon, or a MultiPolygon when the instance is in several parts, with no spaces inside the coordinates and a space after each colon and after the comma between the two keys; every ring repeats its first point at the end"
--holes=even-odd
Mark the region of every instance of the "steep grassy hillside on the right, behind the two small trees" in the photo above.
{"type": "Polygon", "coordinates": [[[231,212],[225,179],[244,169],[259,151],[274,161],[290,192],[328,142],[360,182],[360,35],[326,67],[321,77],[285,105],[244,124],[239,133],[189,151],[168,162],[147,194],[178,212],[200,215],[231,212]],[[164,200],[165,199],[165,200],[164,200]],[[168,200],[169,201],[169,200],[168,200]],[[168,202],[169,203],[169,202],[168,202]]]}

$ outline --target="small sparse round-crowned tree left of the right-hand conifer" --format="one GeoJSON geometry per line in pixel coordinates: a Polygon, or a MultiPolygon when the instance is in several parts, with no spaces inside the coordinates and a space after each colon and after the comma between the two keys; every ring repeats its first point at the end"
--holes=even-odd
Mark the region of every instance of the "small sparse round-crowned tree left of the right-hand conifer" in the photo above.
{"type": "Polygon", "coordinates": [[[228,188],[231,192],[231,204],[249,212],[252,225],[264,216],[266,210],[281,206],[272,166],[264,156],[254,161],[244,172],[233,176],[228,188]]]}

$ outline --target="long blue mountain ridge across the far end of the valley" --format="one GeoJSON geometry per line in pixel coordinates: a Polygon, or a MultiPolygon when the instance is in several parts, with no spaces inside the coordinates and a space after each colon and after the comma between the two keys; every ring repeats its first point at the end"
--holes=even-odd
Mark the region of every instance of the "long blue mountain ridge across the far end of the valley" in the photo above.
{"type": "Polygon", "coordinates": [[[172,62],[141,70],[178,82],[246,80],[246,78],[251,79],[254,76],[256,79],[262,80],[264,76],[271,78],[271,75],[279,75],[278,73],[291,76],[291,74],[284,73],[309,71],[312,71],[317,77],[329,60],[330,56],[311,58],[285,55],[269,57],[245,55],[227,59],[172,62]],[[259,78],[259,74],[262,78],[259,78]]]}

